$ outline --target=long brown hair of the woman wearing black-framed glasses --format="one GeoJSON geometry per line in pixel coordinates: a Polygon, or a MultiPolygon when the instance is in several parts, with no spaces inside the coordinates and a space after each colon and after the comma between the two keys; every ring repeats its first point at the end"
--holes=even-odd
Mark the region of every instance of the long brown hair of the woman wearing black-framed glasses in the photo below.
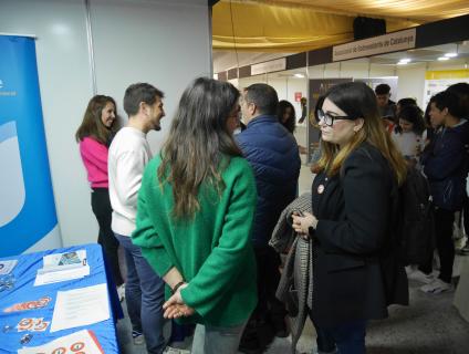
{"type": "Polygon", "coordinates": [[[322,140],[323,153],[316,168],[326,170],[330,176],[336,175],[348,155],[363,142],[368,142],[388,160],[400,186],[407,174],[406,163],[383,127],[373,90],[363,82],[347,82],[333,86],[324,96],[351,118],[363,118],[364,124],[343,148],[322,140]]]}

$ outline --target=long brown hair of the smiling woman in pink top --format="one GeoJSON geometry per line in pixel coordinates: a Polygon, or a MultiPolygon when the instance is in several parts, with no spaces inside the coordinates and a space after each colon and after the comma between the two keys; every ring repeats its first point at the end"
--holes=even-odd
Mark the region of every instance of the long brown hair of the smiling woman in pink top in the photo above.
{"type": "Polygon", "coordinates": [[[77,143],[83,140],[85,137],[93,137],[96,142],[107,145],[117,131],[117,106],[113,97],[105,95],[95,95],[88,102],[85,114],[83,116],[82,124],[75,133],[75,139],[77,143]],[[111,128],[107,128],[101,119],[102,112],[107,103],[114,104],[116,110],[116,118],[114,119],[111,128]]]}

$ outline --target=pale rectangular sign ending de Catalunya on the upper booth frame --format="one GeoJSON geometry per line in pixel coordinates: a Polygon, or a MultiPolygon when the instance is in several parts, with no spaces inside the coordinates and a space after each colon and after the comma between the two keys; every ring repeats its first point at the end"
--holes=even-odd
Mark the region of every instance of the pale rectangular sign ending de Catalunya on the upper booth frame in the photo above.
{"type": "Polygon", "coordinates": [[[332,61],[371,56],[415,48],[416,29],[393,32],[366,40],[355,41],[332,49],[332,61]]]}

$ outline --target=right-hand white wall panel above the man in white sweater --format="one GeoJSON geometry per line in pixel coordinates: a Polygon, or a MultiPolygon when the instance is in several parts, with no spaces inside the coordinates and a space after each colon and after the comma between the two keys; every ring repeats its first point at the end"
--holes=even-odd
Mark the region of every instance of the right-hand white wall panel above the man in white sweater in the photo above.
{"type": "Polygon", "coordinates": [[[211,77],[207,1],[92,0],[91,14],[98,92],[115,97],[125,118],[129,84],[148,82],[166,95],[163,129],[148,135],[155,153],[183,91],[197,76],[211,77]]]}

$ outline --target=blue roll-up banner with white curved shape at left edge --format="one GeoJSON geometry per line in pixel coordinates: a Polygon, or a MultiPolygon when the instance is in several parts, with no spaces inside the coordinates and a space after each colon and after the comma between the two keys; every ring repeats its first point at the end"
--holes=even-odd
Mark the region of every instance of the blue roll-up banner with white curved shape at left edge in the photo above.
{"type": "Polygon", "coordinates": [[[0,35],[0,257],[61,243],[34,39],[0,35]]]}

